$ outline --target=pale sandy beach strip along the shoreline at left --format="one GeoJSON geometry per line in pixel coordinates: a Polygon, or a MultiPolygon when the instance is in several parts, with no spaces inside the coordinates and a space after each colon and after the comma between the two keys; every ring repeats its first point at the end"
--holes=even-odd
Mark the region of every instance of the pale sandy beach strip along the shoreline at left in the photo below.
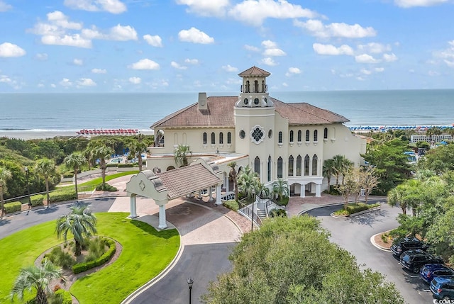
{"type": "MultiPolygon", "coordinates": [[[[79,130],[0,130],[0,137],[17,138],[20,140],[38,140],[54,137],[77,137],[79,130]]],[[[140,130],[140,134],[153,135],[153,130],[140,130]]],[[[87,138],[93,138],[91,136],[87,138]]]]}

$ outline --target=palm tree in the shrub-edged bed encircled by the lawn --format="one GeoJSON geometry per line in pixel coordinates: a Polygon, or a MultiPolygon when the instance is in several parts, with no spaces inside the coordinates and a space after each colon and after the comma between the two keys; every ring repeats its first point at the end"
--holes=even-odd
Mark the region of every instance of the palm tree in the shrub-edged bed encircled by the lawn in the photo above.
{"type": "Polygon", "coordinates": [[[96,216],[87,206],[76,204],[70,207],[71,212],[67,215],[60,215],[57,219],[57,237],[63,236],[67,242],[68,232],[74,235],[74,255],[77,257],[82,251],[84,237],[91,237],[96,234],[96,216]]]}

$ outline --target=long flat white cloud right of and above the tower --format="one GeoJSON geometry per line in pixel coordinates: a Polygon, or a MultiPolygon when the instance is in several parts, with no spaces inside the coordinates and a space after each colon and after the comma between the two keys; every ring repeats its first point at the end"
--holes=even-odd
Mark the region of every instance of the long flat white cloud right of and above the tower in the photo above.
{"type": "Polygon", "coordinates": [[[363,28],[358,23],[353,26],[347,23],[330,23],[324,25],[319,20],[308,20],[308,21],[294,21],[294,26],[303,28],[311,35],[320,38],[365,38],[377,35],[374,28],[367,27],[363,28]]]}

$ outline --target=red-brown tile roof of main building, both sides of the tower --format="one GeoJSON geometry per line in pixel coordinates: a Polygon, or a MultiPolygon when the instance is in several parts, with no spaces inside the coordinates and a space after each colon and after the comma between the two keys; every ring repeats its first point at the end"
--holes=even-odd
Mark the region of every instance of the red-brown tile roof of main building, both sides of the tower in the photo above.
{"type": "MultiPolygon", "coordinates": [[[[198,103],[187,106],[158,120],[150,128],[235,127],[233,107],[238,96],[210,96],[207,110],[199,110],[198,103]]],[[[277,113],[288,118],[289,125],[319,125],[346,123],[350,120],[309,103],[284,103],[272,98],[277,113]]]]}

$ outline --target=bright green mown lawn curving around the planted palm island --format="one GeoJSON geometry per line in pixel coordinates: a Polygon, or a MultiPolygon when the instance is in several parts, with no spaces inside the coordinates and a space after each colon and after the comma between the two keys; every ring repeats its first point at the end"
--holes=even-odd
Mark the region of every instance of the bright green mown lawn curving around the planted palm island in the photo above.
{"type": "MultiPolygon", "coordinates": [[[[81,304],[120,303],[128,294],[162,271],[177,254],[177,230],[157,232],[148,224],[129,220],[128,213],[96,213],[98,235],[114,238],[123,246],[114,264],[76,281],[70,291],[81,304]]],[[[13,286],[21,266],[32,264],[49,247],[58,244],[55,221],[17,232],[0,240],[2,279],[0,303],[13,286]]]]}

